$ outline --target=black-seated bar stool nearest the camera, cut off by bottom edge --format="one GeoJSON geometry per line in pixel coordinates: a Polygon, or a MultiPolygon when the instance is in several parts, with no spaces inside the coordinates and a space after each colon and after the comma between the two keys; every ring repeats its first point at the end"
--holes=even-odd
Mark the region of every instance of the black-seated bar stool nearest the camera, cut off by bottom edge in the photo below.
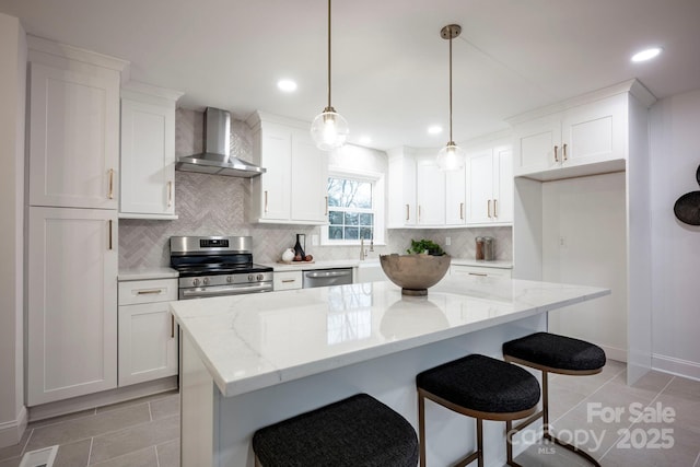
{"type": "Polygon", "coordinates": [[[418,440],[399,413],[366,394],[261,428],[255,465],[265,467],[416,467],[418,440]]]}

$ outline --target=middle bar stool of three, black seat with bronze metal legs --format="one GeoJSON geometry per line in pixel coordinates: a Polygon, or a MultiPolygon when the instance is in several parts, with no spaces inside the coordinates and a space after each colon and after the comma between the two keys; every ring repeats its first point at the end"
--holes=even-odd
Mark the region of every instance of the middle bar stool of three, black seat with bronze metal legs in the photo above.
{"type": "MultiPolygon", "coordinates": [[[[425,466],[425,399],[476,419],[477,450],[455,466],[466,466],[478,459],[479,467],[483,466],[482,421],[510,422],[528,417],[535,412],[539,401],[539,384],[529,372],[479,354],[421,372],[416,376],[416,385],[421,467],[425,466]]],[[[517,466],[512,462],[510,465],[517,466]]]]}

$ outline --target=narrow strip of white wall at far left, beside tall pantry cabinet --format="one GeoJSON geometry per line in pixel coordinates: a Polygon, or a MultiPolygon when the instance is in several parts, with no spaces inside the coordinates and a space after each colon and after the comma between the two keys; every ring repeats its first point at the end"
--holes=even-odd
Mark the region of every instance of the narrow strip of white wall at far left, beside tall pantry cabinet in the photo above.
{"type": "Polygon", "coordinates": [[[26,425],[23,371],[24,108],[26,43],[0,13],[0,447],[26,425]]]}

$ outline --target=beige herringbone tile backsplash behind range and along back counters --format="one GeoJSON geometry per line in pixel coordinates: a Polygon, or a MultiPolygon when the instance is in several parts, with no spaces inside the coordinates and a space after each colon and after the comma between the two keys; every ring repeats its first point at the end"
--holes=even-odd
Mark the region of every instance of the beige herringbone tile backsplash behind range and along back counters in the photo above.
{"type": "MultiPolygon", "coordinates": [[[[199,112],[177,109],[176,155],[202,150],[203,116],[199,112]]],[[[231,153],[250,161],[253,136],[248,126],[232,120],[231,153]]],[[[381,164],[380,164],[381,165],[381,164]]],[[[248,178],[222,177],[190,172],[175,173],[174,221],[121,219],[119,221],[119,268],[155,268],[170,265],[168,241],[174,235],[252,235],[256,262],[275,262],[283,249],[294,245],[296,233],[306,234],[306,248],[317,260],[359,258],[358,246],[311,246],[320,227],[307,225],[260,225],[247,222],[250,198],[248,178]]],[[[430,238],[457,258],[474,258],[475,237],[495,237],[497,258],[512,259],[511,227],[443,230],[389,230],[386,245],[376,245],[370,258],[402,253],[411,238],[430,238]],[[445,246],[445,237],[452,240],[445,246]]]]}

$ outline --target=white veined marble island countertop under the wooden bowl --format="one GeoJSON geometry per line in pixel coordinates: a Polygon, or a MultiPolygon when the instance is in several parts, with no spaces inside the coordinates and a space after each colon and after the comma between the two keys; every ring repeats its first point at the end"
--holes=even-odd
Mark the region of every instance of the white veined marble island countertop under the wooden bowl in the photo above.
{"type": "Polygon", "coordinates": [[[446,277],[427,297],[373,282],[171,302],[226,396],[607,295],[608,289],[446,277]]]}

